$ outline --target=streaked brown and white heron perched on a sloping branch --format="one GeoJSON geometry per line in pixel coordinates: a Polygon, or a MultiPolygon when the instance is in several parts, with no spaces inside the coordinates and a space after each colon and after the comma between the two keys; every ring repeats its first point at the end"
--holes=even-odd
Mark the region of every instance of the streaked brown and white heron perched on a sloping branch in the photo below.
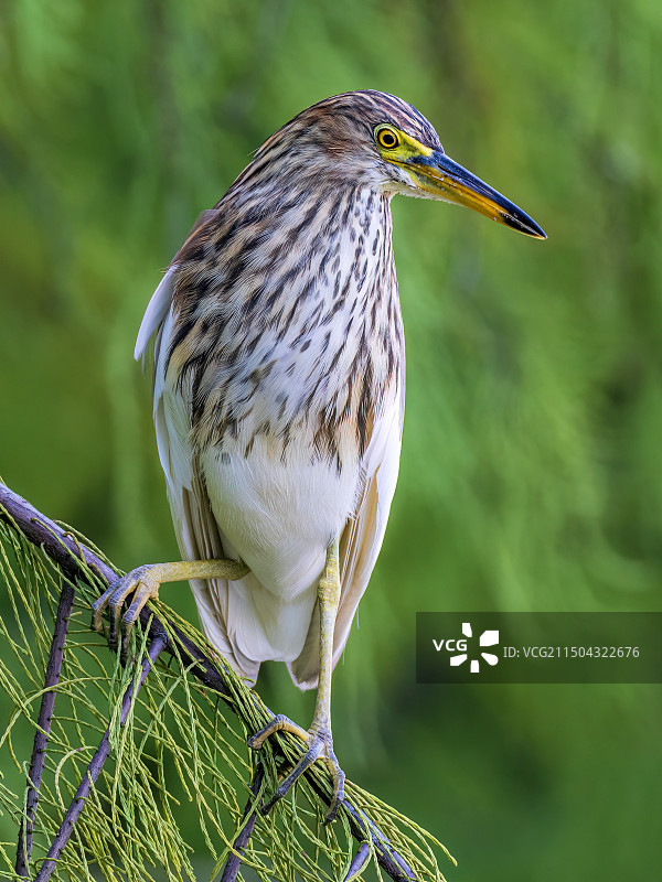
{"type": "Polygon", "coordinates": [[[278,714],[248,740],[305,753],[344,794],[331,675],[380,552],[395,492],[405,348],[392,246],[396,194],[458,203],[527,236],[543,229],[451,160],[410,104],[373,89],[314,104],[255,152],[202,213],[145,312],[153,421],[183,560],[146,564],[93,605],[117,647],[163,582],[189,580],[202,628],[255,684],[284,662],[317,687],[308,730],[278,714]],[[125,601],[128,611],[120,615],[125,601]]]}

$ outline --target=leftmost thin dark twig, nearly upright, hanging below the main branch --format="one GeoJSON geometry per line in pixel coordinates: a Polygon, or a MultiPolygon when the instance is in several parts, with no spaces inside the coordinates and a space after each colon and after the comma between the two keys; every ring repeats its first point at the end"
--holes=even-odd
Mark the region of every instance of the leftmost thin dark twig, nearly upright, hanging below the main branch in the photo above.
{"type": "MultiPolygon", "coordinates": [[[[66,578],[66,577],[65,577],[66,578]]],[[[46,665],[46,676],[44,678],[44,692],[42,695],[36,731],[34,733],[34,744],[32,757],[30,760],[30,772],[28,775],[28,797],[25,800],[25,815],[21,819],[19,829],[19,843],[17,846],[15,869],[18,875],[28,879],[28,867],[32,856],[32,833],[34,829],[34,816],[39,802],[39,790],[41,787],[44,763],[46,761],[46,747],[51,735],[51,722],[55,708],[55,695],[60,682],[60,671],[64,657],[64,644],[68,632],[68,623],[74,605],[74,588],[68,580],[62,587],[57,614],[55,616],[55,627],[53,639],[51,641],[51,653],[46,665]]]]}

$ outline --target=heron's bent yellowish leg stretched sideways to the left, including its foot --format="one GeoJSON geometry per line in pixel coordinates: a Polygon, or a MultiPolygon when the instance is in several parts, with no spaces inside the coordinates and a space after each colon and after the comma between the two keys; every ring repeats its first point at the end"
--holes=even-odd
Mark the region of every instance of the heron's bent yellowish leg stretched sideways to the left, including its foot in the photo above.
{"type": "Polygon", "coordinates": [[[119,581],[114,582],[92,604],[92,627],[104,633],[102,613],[110,609],[110,630],[108,643],[117,648],[117,634],[121,607],[129,594],[134,594],[131,605],[122,616],[124,638],[121,658],[126,660],[131,628],[145,604],[159,596],[159,587],[163,582],[180,582],[185,579],[241,579],[248,572],[248,567],[241,560],[182,560],[178,563],[147,563],[128,572],[119,581]]]}

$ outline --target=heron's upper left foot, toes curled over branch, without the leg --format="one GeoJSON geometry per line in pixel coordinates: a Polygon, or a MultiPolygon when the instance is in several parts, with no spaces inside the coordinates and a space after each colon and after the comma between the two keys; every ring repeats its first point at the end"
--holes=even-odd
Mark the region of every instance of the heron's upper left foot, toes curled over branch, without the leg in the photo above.
{"type": "Polygon", "coordinates": [[[127,660],[129,637],[134,624],[146,603],[150,600],[157,600],[159,596],[159,587],[161,584],[161,579],[158,578],[159,567],[160,564],[146,564],[131,570],[131,572],[118,579],[117,582],[113,582],[102,596],[92,604],[92,630],[99,634],[104,633],[102,614],[106,607],[110,610],[108,645],[111,649],[117,649],[121,609],[129,594],[134,594],[129,609],[124,616],[121,616],[124,635],[121,639],[120,659],[122,665],[126,664],[127,660]]]}

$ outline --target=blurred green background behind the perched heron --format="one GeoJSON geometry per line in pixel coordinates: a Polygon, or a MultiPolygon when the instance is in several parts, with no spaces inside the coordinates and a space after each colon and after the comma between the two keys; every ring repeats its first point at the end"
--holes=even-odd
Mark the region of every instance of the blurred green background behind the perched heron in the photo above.
{"type": "MultiPolygon", "coordinates": [[[[177,556],[143,309],[284,121],[395,93],[546,229],[394,202],[403,462],[335,745],[448,845],[449,880],[649,880],[660,687],[417,687],[414,624],[662,607],[662,4],[6,0],[0,24],[0,473],[124,569],[177,556]]],[[[260,688],[307,724],[284,666],[260,688]]]]}

